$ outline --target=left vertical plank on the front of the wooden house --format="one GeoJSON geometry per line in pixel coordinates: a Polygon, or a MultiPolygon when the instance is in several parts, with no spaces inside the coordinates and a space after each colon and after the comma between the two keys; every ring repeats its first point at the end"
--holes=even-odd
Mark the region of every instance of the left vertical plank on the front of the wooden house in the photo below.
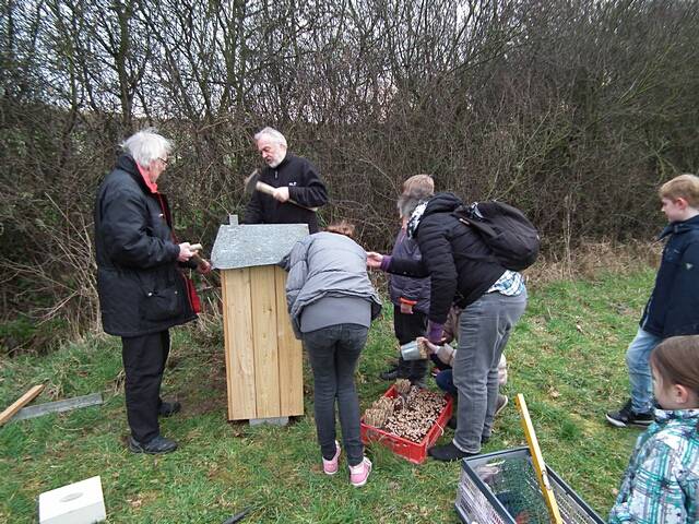
{"type": "Polygon", "coordinates": [[[221,272],[228,420],[257,418],[250,270],[221,272]]]}

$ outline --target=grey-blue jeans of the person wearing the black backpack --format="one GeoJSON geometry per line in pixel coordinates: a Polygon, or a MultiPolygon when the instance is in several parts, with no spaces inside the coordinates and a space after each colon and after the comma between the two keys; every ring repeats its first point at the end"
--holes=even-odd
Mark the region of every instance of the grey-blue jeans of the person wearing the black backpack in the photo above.
{"type": "Polygon", "coordinates": [[[459,391],[453,444],[478,453],[493,432],[498,402],[498,364],[514,324],[526,308],[526,291],[508,297],[487,293],[466,306],[459,321],[453,380],[459,391]]]}

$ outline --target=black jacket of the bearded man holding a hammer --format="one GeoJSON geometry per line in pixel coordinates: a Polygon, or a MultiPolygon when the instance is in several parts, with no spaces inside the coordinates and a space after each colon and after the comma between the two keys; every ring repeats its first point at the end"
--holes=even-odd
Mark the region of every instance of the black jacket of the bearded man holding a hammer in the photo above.
{"type": "MultiPolygon", "coordinates": [[[[306,158],[286,153],[275,168],[265,167],[260,181],[273,188],[288,187],[288,194],[306,207],[320,207],[328,203],[328,191],[316,167],[306,158]]],[[[311,234],[318,231],[316,213],[291,202],[282,203],[269,194],[256,191],[245,210],[242,224],[308,224],[311,234]]]]}

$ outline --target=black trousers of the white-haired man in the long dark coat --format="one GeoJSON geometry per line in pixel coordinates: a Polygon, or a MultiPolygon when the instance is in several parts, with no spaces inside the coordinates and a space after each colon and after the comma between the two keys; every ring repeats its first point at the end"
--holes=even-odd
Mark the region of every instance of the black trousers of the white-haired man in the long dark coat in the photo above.
{"type": "Polygon", "coordinates": [[[161,433],[157,412],[161,407],[161,382],[170,350],[170,334],[121,337],[121,357],[126,373],[125,394],[131,437],[142,443],[161,433]]]}

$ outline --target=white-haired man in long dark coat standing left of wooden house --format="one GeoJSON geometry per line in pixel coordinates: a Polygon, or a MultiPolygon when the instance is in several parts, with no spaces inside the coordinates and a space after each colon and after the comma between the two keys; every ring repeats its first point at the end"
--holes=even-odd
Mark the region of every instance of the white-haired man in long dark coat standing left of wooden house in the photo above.
{"type": "Polygon", "coordinates": [[[178,242],[157,180],[171,143],[154,130],[121,144],[125,154],[105,177],[95,202],[97,291],[104,330],[121,336],[129,449],[161,454],[177,443],[161,434],[157,418],[180,409],[159,396],[170,347],[168,329],[197,318],[196,294],[181,272],[211,270],[189,242],[178,242]]]}

